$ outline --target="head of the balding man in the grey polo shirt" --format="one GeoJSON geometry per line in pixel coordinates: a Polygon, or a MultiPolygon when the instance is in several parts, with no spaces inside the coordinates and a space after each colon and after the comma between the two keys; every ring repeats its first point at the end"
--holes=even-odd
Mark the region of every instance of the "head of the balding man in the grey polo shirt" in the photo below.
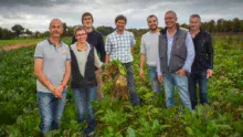
{"type": "Polygon", "coordinates": [[[54,20],[50,25],[49,31],[53,38],[60,38],[63,33],[62,22],[54,20]]]}

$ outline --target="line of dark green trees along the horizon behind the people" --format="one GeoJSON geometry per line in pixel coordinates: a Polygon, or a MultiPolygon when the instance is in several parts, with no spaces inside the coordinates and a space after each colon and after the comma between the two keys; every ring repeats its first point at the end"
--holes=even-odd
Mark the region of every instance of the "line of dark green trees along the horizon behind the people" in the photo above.
{"type": "MultiPolygon", "coordinates": [[[[187,23],[180,24],[182,28],[189,29],[187,23]]],[[[216,21],[211,20],[208,22],[202,22],[201,28],[211,33],[237,33],[243,32],[243,20],[239,18],[234,18],[233,20],[224,20],[219,19],[216,21]]],[[[112,33],[115,29],[112,27],[97,27],[97,31],[99,31],[103,35],[107,35],[112,33]]],[[[66,23],[63,23],[63,36],[72,36],[74,31],[74,27],[67,27],[66,23]]],[[[147,29],[128,29],[128,31],[134,32],[135,36],[141,36],[146,33],[147,29]]],[[[47,38],[49,31],[45,32],[32,32],[29,29],[24,29],[21,24],[14,24],[11,30],[4,29],[0,27],[0,40],[11,40],[19,38],[47,38]]]]}

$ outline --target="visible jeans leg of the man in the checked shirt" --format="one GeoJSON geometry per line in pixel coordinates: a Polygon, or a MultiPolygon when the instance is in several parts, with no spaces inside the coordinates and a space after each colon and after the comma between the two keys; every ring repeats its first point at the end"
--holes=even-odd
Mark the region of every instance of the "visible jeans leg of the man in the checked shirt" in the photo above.
{"type": "Polygon", "coordinates": [[[124,63],[124,66],[127,70],[127,86],[130,93],[130,102],[134,105],[139,105],[139,97],[135,89],[135,80],[134,80],[134,71],[131,63],[124,63]]]}

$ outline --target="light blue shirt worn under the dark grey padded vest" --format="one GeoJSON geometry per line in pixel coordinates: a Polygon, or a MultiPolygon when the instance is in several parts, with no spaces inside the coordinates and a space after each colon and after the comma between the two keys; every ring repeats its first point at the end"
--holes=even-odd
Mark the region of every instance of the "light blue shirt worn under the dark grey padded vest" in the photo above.
{"type": "MultiPolygon", "coordinates": [[[[173,36],[175,36],[176,32],[177,32],[177,30],[173,32],[173,36]]],[[[168,62],[168,65],[169,65],[169,62],[170,62],[170,53],[171,53],[171,50],[172,50],[173,36],[170,38],[170,35],[167,31],[167,43],[168,43],[168,50],[167,50],[167,59],[168,60],[167,60],[167,62],[168,62]]],[[[191,34],[189,32],[188,32],[187,40],[186,40],[186,48],[187,48],[187,59],[186,59],[186,62],[184,62],[184,65],[183,65],[182,70],[190,73],[191,72],[191,65],[194,61],[194,45],[193,45],[193,41],[191,39],[191,34]]],[[[158,73],[158,75],[161,75],[159,55],[157,57],[157,73],[158,73]]]]}

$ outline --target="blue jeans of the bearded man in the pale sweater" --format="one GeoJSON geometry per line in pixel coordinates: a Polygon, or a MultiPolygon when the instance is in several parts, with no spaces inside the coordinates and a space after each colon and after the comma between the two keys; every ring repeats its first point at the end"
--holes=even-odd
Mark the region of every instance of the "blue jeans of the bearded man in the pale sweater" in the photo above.
{"type": "Polygon", "coordinates": [[[151,83],[152,92],[160,93],[161,86],[160,86],[160,82],[158,81],[156,66],[148,66],[148,75],[151,83]]]}

